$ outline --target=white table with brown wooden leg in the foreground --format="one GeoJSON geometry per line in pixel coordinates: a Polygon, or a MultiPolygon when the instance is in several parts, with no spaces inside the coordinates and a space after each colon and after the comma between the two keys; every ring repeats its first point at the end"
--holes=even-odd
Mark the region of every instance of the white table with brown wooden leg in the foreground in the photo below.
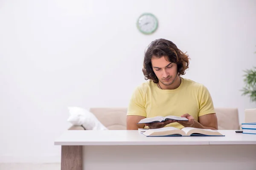
{"type": "Polygon", "coordinates": [[[137,130],[67,130],[61,170],[256,170],[256,135],[146,137],[137,130]]]}

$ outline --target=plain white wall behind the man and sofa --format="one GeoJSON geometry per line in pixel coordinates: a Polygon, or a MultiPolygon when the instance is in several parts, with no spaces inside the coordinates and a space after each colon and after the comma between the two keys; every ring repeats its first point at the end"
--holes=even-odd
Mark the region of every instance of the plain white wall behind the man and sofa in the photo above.
{"type": "Polygon", "coordinates": [[[144,82],[143,53],[172,40],[191,57],[185,77],[207,86],[215,107],[255,108],[241,96],[256,66],[254,0],[1,0],[0,161],[60,161],[53,142],[67,106],[126,107],[144,82]],[[136,21],[159,19],[153,35],[136,21]]]}

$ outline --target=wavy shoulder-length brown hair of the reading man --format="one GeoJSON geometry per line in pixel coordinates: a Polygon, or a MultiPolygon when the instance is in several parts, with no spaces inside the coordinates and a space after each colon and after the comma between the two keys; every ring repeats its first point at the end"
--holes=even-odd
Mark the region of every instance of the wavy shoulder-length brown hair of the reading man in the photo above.
{"type": "Polygon", "coordinates": [[[186,53],[180,51],[177,46],[169,40],[157,39],[148,45],[148,49],[145,52],[143,62],[143,74],[145,80],[153,80],[154,83],[158,83],[159,80],[153,71],[151,58],[152,57],[168,57],[169,62],[177,64],[178,75],[184,75],[185,70],[189,68],[189,56],[186,53]]]}

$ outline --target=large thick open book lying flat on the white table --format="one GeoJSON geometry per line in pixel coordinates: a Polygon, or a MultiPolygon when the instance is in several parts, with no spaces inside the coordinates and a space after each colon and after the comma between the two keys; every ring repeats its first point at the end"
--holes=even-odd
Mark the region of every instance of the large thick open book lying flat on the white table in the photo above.
{"type": "Polygon", "coordinates": [[[143,135],[145,136],[224,136],[217,130],[199,129],[194,127],[162,127],[159,129],[148,129],[143,135]]]}

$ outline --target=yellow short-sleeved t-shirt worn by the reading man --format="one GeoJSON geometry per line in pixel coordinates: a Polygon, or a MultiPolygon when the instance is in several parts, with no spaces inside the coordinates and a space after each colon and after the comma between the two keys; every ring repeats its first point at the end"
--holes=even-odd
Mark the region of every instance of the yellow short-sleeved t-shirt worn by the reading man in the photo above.
{"type": "MultiPolygon", "coordinates": [[[[173,90],[162,90],[153,81],[147,81],[138,86],[132,94],[127,115],[148,118],[169,115],[181,116],[186,113],[198,121],[199,116],[215,113],[215,110],[212,97],[204,85],[181,78],[180,86],[173,90]]],[[[183,128],[177,122],[167,126],[183,128]]]]}

